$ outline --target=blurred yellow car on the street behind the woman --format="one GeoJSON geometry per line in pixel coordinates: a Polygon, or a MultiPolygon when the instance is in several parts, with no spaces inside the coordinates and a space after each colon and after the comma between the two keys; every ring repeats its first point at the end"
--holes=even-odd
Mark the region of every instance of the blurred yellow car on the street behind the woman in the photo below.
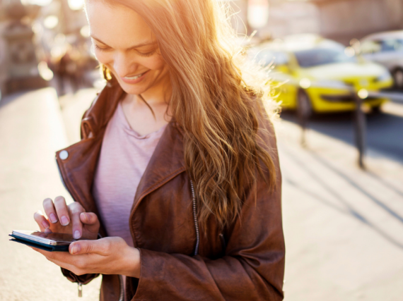
{"type": "Polygon", "coordinates": [[[252,56],[262,65],[273,65],[269,77],[281,106],[300,106],[308,116],[354,110],[354,92],[377,110],[388,99],[376,92],[393,85],[385,67],[355,56],[351,47],[316,35],[262,44],[252,56]]]}

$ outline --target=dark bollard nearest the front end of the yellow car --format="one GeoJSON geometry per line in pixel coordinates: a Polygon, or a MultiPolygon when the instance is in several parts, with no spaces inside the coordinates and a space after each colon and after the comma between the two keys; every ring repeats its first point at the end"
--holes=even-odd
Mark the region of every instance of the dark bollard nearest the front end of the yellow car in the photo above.
{"type": "Polygon", "coordinates": [[[366,146],[366,115],[363,112],[361,106],[363,104],[363,99],[366,99],[368,95],[366,96],[365,93],[360,95],[360,92],[361,91],[359,91],[358,93],[352,92],[351,96],[354,100],[354,103],[356,104],[353,121],[356,147],[358,149],[358,165],[360,166],[360,168],[365,169],[364,154],[366,146]]]}

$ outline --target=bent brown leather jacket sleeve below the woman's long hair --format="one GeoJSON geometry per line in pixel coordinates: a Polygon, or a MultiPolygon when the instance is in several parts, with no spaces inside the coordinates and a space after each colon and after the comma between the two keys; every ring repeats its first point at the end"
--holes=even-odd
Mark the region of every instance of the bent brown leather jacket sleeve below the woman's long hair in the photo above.
{"type": "Polygon", "coordinates": [[[281,221],[281,173],[271,125],[264,139],[276,166],[269,194],[257,180],[257,199],[246,196],[228,237],[226,254],[201,256],[140,249],[141,271],[133,300],[283,300],[285,245],[281,221]]]}

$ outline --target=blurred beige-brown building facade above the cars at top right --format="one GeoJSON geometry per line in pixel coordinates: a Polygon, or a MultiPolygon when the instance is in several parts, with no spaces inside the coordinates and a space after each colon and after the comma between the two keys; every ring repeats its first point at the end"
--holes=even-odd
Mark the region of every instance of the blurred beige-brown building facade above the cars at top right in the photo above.
{"type": "MultiPolygon", "coordinates": [[[[247,29],[247,7],[254,0],[233,0],[233,25],[247,29]]],[[[343,44],[373,32],[403,29],[403,0],[267,0],[269,20],[258,37],[281,38],[316,33],[343,44]]],[[[252,32],[254,28],[248,28],[252,32]]]]}

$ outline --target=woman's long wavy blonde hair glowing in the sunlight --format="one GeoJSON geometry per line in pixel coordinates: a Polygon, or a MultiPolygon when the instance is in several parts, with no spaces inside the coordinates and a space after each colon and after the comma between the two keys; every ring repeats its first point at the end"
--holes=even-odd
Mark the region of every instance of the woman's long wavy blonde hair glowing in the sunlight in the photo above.
{"type": "Polygon", "coordinates": [[[170,68],[170,111],[185,133],[199,222],[206,228],[213,214],[219,226],[228,226],[240,214],[245,188],[256,190],[257,172],[267,180],[267,193],[276,178],[271,154],[257,135],[265,82],[254,76],[255,85],[247,83],[251,73],[243,68],[242,48],[233,43],[228,7],[216,0],[106,2],[132,8],[156,35],[170,68]]]}

